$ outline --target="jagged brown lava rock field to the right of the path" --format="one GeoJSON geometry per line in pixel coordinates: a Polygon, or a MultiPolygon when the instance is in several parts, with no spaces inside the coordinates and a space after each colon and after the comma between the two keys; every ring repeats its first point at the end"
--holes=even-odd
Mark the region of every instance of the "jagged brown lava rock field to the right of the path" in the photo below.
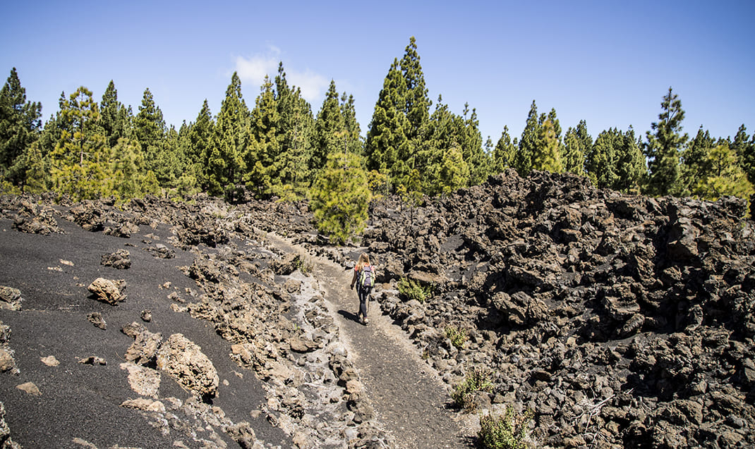
{"type": "Polygon", "coordinates": [[[744,208],[507,172],[421,208],[377,203],[363,243],[384,281],[432,286],[425,303],[381,300],[428,362],[451,386],[488,372],[473,406],[529,409],[540,444],[753,447],[744,208]]]}

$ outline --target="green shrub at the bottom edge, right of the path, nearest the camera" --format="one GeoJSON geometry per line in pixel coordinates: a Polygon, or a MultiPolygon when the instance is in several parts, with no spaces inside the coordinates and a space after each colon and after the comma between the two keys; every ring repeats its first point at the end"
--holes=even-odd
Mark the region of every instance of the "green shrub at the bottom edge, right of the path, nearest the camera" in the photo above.
{"type": "Polygon", "coordinates": [[[518,414],[513,407],[499,416],[483,415],[479,419],[477,434],[479,445],[484,449],[527,449],[527,427],[532,420],[532,411],[518,414]]]}

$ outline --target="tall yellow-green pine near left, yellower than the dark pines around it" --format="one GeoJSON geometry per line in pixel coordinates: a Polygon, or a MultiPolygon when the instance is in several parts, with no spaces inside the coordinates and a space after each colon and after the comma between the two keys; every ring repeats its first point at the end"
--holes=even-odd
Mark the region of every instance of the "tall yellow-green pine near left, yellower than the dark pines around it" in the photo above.
{"type": "Polygon", "coordinates": [[[57,192],[74,200],[112,193],[109,148],[99,120],[97,102],[83,86],[61,105],[62,131],[50,155],[51,179],[57,192]]]}

